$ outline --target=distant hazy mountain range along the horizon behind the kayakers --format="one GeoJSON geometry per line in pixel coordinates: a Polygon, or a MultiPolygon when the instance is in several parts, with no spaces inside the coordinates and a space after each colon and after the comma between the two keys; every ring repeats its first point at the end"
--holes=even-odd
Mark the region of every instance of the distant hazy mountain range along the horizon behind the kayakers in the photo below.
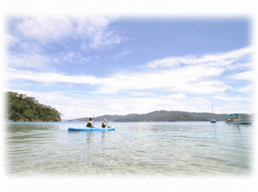
{"type": "MultiPolygon", "coordinates": [[[[240,118],[253,118],[254,114],[240,114],[240,118]]],[[[180,122],[180,121],[210,121],[212,118],[217,121],[225,121],[228,114],[212,114],[212,113],[190,113],[184,111],[154,111],[147,114],[128,114],[128,115],[103,115],[95,117],[95,121],[103,121],[106,118],[113,122],[180,122]]],[[[72,119],[68,121],[88,121],[89,117],[80,119],[72,119]]]]}

